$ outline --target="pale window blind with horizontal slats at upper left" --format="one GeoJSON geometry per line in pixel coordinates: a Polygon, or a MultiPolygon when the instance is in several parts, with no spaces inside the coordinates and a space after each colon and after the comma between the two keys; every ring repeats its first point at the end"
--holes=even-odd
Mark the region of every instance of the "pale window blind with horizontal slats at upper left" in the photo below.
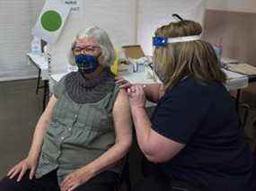
{"type": "Polygon", "coordinates": [[[31,28],[41,3],[39,0],[0,1],[0,81],[35,76],[26,54],[31,49],[31,28]]]}

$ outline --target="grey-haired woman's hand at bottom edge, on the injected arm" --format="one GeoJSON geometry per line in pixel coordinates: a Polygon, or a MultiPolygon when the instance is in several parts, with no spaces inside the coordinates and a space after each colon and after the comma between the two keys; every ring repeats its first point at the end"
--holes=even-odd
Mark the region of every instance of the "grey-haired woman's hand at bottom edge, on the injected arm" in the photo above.
{"type": "Polygon", "coordinates": [[[93,174],[85,170],[84,168],[76,169],[74,172],[71,172],[60,184],[61,191],[72,191],[76,187],[83,185],[90,178],[93,178],[93,174]]]}

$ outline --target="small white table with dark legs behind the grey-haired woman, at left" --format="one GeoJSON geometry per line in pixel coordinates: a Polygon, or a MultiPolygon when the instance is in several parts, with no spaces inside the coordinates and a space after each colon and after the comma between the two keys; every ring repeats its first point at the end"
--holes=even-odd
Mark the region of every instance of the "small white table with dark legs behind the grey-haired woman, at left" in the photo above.
{"type": "Polygon", "coordinates": [[[38,54],[28,53],[27,56],[29,58],[29,63],[31,63],[32,65],[35,65],[36,68],[39,70],[36,94],[38,94],[40,88],[44,89],[44,94],[43,94],[43,110],[44,110],[46,108],[46,102],[47,102],[48,94],[49,94],[48,60],[45,58],[45,56],[43,56],[41,54],[38,55],[38,54]],[[42,86],[40,86],[40,79],[42,79],[42,81],[43,81],[42,86]]]}

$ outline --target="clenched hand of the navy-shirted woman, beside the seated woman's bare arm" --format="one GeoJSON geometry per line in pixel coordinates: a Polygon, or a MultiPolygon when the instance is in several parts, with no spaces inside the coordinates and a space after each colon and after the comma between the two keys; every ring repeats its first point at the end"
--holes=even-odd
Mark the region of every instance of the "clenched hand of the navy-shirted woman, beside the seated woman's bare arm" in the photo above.
{"type": "Polygon", "coordinates": [[[131,109],[145,108],[146,96],[144,85],[132,85],[128,88],[128,98],[131,109]]]}

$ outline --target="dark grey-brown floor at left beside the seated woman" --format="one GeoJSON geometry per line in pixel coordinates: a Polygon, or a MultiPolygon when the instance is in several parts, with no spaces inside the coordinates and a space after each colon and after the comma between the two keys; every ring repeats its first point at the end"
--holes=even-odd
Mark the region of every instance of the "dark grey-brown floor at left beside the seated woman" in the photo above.
{"type": "Polygon", "coordinates": [[[42,109],[36,79],[0,82],[0,178],[26,156],[42,109]]]}

